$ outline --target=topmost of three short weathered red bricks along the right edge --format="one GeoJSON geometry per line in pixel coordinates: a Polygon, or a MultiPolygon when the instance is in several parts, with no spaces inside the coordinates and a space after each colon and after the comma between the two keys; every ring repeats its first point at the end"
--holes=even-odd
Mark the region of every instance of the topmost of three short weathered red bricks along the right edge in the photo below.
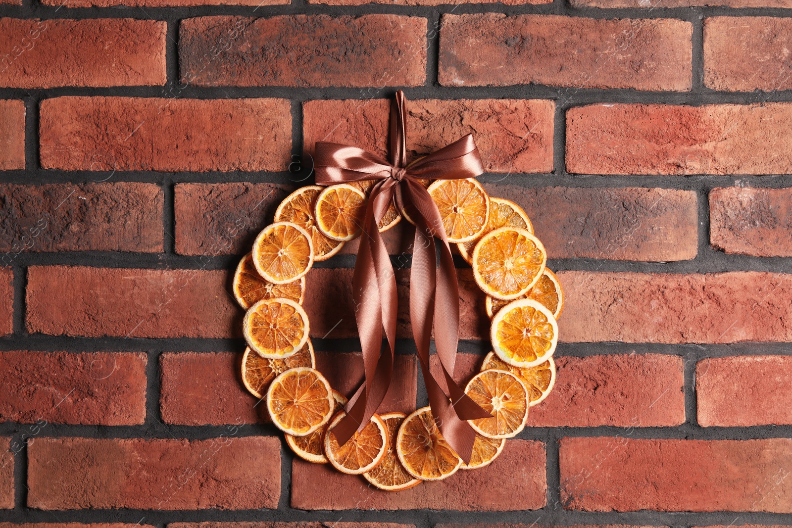
{"type": "Polygon", "coordinates": [[[704,20],[704,85],[728,92],[792,88],[786,65],[792,21],[776,17],[704,20]]]}

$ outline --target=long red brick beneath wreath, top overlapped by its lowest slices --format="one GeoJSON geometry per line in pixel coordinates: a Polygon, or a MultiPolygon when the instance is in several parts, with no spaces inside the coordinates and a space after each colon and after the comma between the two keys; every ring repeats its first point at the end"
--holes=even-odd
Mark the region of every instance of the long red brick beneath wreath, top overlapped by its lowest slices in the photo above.
{"type": "Polygon", "coordinates": [[[295,458],[291,507],[301,510],[538,510],[546,504],[545,446],[509,440],[501,456],[475,471],[427,481],[401,492],[383,492],[364,479],[295,458]],[[508,496],[508,500],[504,497],[508,496]]]}

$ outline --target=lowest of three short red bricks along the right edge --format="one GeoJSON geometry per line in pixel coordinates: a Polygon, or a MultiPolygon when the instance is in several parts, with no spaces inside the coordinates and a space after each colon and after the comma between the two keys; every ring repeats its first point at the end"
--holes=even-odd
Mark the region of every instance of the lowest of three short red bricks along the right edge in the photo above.
{"type": "Polygon", "coordinates": [[[699,425],[792,424],[792,358],[747,355],[706,358],[696,365],[699,425]]]}

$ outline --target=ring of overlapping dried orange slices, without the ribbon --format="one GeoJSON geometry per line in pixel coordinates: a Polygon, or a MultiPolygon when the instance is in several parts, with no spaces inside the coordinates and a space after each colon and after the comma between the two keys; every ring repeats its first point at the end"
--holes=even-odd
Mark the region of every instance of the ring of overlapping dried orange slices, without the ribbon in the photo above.
{"type": "MultiPolygon", "coordinates": [[[[307,185],[292,192],[277,208],[275,223],[261,231],[239,262],[233,294],[247,310],[242,383],[266,399],[268,416],[286,433],[291,450],[308,462],[329,463],[362,475],[376,488],[397,491],[489,465],[504,450],[505,439],[530,424],[528,411],[555,384],[556,319],[564,294],[519,205],[490,198],[474,179],[427,180],[448,240],[457,244],[487,294],[493,351],[466,393],[493,417],[470,420],[476,437],[467,465],[445,441],[428,407],[406,417],[375,415],[339,446],[333,427],[345,416],[347,400],[316,370],[308,316],[300,305],[314,261],[329,259],[345,241],[360,236],[373,184],[307,185]]],[[[379,230],[401,218],[412,222],[391,204],[379,230]]]]}

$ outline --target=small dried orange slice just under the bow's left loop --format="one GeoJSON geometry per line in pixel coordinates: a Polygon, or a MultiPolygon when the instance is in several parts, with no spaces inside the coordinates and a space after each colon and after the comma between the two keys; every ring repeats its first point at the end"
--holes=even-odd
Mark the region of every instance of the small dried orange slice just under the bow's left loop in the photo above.
{"type": "Polygon", "coordinates": [[[316,226],[333,240],[349,241],[360,235],[365,213],[366,195],[349,184],[330,185],[316,197],[316,226]]]}

